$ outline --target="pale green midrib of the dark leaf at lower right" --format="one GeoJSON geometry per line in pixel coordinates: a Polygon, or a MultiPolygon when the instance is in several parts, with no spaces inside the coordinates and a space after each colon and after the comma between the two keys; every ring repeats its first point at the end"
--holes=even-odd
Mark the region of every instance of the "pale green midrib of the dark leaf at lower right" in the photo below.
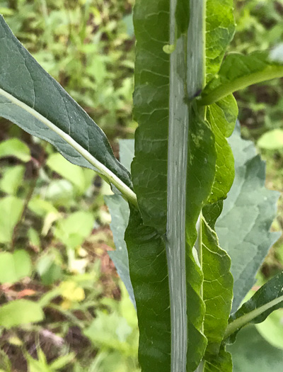
{"type": "Polygon", "coordinates": [[[270,303],[266,303],[265,305],[262,305],[259,308],[256,308],[255,310],[248,312],[248,314],[238,317],[238,319],[234,320],[228,325],[226,332],[224,334],[224,339],[231,336],[231,334],[236,332],[238,329],[241,329],[243,326],[247,325],[249,322],[255,319],[255,317],[258,317],[260,314],[262,314],[262,312],[265,312],[266,310],[272,308],[278,303],[281,303],[282,300],[283,295],[275,298],[275,300],[270,301],[270,303]]]}

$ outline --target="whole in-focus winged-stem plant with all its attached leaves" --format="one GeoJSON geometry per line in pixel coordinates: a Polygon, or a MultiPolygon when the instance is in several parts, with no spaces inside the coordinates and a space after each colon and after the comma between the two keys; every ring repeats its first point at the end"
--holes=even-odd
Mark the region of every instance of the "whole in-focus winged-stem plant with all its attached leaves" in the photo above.
{"type": "Polygon", "coordinates": [[[233,133],[233,92],[282,77],[282,49],[225,55],[231,0],[137,0],[134,29],[139,127],[130,168],[132,142],[122,142],[124,167],[4,18],[0,115],[111,184],[111,257],[137,308],[141,371],[229,372],[226,344],[283,303],[279,274],[241,306],[278,237],[269,231],[278,196],[265,189],[253,146],[233,133]]]}

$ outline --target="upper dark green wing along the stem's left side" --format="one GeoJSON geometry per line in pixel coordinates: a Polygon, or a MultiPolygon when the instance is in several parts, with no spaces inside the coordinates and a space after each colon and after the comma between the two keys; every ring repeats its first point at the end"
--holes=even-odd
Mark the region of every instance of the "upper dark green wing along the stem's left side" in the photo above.
{"type": "Polygon", "coordinates": [[[134,7],[137,38],[134,72],[134,191],[145,225],[166,232],[170,55],[169,1],[138,0],[134,7]]]}

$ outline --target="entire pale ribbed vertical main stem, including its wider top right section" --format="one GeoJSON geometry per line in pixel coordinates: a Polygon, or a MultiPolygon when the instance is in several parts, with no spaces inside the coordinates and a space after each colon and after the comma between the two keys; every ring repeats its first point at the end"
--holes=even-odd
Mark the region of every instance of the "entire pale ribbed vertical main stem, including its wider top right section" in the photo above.
{"type": "MultiPolygon", "coordinates": [[[[187,0],[189,1],[189,0],[187,0]]],[[[186,187],[189,107],[204,84],[204,0],[190,0],[191,20],[186,34],[176,37],[175,8],[171,0],[170,43],[175,50],[170,59],[168,133],[167,244],[171,297],[171,372],[187,368],[187,288],[186,288],[186,187]]]]}

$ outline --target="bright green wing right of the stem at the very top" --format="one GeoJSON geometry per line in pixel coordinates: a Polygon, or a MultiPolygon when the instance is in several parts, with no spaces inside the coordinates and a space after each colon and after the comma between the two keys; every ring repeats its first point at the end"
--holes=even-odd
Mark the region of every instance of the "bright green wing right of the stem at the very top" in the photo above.
{"type": "Polygon", "coordinates": [[[235,33],[232,0],[207,0],[206,13],[207,82],[219,71],[226,48],[235,33]]]}

